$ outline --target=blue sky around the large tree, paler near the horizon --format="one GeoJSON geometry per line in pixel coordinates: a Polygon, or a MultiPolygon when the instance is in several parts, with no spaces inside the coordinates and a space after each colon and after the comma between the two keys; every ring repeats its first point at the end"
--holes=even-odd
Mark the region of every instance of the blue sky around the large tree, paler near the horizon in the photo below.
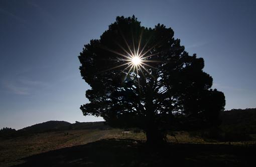
{"type": "Polygon", "coordinates": [[[171,27],[205,60],[225,109],[256,107],[256,1],[0,0],[0,128],[83,116],[88,85],[77,56],[116,16],[171,27]]]}

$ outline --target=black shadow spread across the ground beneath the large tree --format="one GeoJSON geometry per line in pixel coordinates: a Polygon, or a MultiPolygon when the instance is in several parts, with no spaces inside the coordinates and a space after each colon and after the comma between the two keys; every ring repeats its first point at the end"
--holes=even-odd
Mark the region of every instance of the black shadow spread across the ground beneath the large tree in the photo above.
{"type": "Polygon", "coordinates": [[[139,140],[104,139],[29,156],[15,166],[249,166],[255,157],[255,146],[170,143],[153,149],[139,140]]]}

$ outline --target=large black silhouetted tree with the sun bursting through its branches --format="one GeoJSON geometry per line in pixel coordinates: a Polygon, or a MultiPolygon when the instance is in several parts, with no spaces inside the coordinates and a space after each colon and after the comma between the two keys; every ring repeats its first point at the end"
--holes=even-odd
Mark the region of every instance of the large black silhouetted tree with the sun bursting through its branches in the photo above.
{"type": "Polygon", "coordinates": [[[219,123],[224,94],[210,89],[203,58],[189,56],[171,28],[145,28],[134,16],[117,17],[99,40],[84,46],[79,60],[91,87],[90,103],[80,107],[84,115],[101,116],[114,127],[142,128],[149,142],[163,141],[174,123],[219,123]]]}

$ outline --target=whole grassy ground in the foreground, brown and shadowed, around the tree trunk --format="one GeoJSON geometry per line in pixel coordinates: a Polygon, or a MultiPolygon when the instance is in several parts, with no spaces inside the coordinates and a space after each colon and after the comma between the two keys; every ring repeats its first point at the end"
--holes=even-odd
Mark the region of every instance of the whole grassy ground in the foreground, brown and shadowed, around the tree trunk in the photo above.
{"type": "Polygon", "coordinates": [[[168,144],[147,145],[143,132],[69,130],[0,140],[0,166],[246,166],[254,141],[231,144],[176,132],[168,144]]]}

